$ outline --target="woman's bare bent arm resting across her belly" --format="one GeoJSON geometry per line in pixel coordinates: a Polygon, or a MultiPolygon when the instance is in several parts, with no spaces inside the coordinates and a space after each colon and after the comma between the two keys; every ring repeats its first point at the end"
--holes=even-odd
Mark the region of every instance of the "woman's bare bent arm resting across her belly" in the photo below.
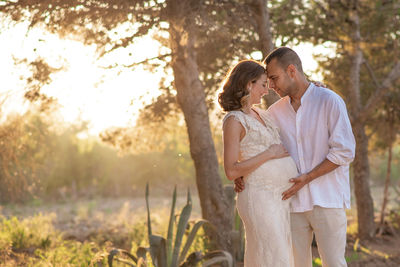
{"type": "Polygon", "coordinates": [[[268,160],[289,156],[283,145],[275,144],[250,159],[239,161],[240,141],[244,135],[245,129],[240,122],[233,117],[226,119],[223,126],[224,168],[229,180],[246,176],[268,160]]]}

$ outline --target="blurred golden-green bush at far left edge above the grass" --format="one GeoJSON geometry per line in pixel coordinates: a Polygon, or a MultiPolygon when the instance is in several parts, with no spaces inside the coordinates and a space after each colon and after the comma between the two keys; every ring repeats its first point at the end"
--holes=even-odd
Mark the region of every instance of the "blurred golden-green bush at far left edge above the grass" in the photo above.
{"type": "Polygon", "coordinates": [[[37,189],[48,124],[37,114],[10,115],[0,125],[0,202],[25,200],[37,189]]]}

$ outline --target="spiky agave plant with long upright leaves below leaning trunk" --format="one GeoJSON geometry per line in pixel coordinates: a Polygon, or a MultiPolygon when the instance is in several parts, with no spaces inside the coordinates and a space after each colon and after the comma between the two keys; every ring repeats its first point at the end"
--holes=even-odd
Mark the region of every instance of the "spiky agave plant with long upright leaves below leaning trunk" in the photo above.
{"type": "Polygon", "coordinates": [[[190,191],[187,193],[187,203],[182,208],[179,215],[178,224],[175,226],[175,205],[176,205],[176,186],[172,195],[171,214],[169,217],[167,237],[154,235],[151,228],[151,216],[149,205],[149,185],[146,185],[146,208],[147,208],[147,234],[149,247],[139,247],[136,256],[126,250],[113,249],[108,254],[108,265],[112,267],[113,261],[122,262],[133,267],[147,267],[147,254],[150,254],[151,262],[155,267],[191,267],[203,261],[203,267],[211,266],[219,262],[226,262],[229,267],[233,266],[232,256],[226,251],[212,251],[205,255],[196,251],[189,255],[189,249],[199,231],[205,225],[210,224],[206,220],[198,220],[193,225],[189,235],[183,245],[183,236],[189,224],[192,212],[192,198],[190,191]],[[176,229],[175,229],[176,228],[176,229]],[[183,247],[182,247],[183,245],[183,247]],[[129,259],[122,259],[118,256],[125,255],[129,259]]]}

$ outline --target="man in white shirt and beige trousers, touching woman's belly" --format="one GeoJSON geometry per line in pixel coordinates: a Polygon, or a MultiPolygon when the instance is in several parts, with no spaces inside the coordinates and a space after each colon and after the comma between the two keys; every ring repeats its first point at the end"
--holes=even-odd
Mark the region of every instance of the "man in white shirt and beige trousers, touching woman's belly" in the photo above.
{"type": "MultiPolygon", "coordinates": [[[[349,164],[355,140],[342,98],[310,83],[299,56],[280,47],[264,60],[270,88],[281,99],[268,110],[300,175],[282,193],[291,198],[291,231],[296,267],[312,266],[313,232],[323,266],[347,266],[347,219],[350,208],[349,164]]],[[[235,190],[244,189],[241,178],[235,190]]]]}

